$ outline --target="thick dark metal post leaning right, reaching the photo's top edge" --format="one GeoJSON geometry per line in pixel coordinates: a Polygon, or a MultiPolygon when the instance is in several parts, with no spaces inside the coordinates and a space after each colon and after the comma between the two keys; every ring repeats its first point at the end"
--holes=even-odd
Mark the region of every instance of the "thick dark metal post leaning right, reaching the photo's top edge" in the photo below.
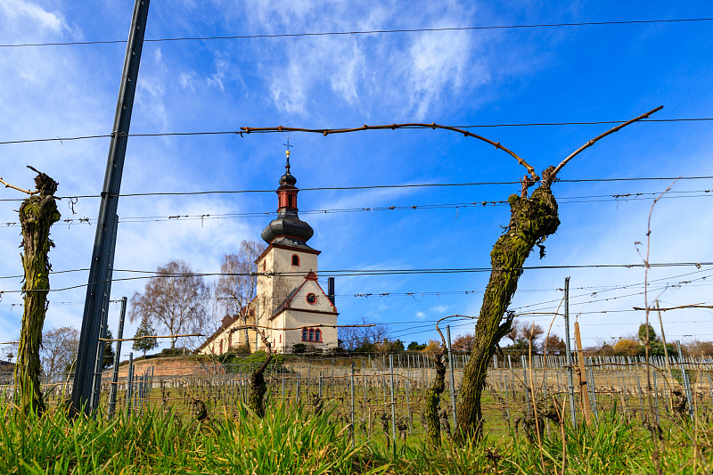
{"type": "Polygon", "coordinates": [[[146,29],[146,19],[149,13],[149,0],[135,0],[134,14],[131,20],[131,30],[127,41],[127,53],[124,58],[119,99],[114,116],[114,127],[111,132],[111,144],[107,160],[106,174],[102,188],[102,201],[99,207],[94,250],[89,269],[89,283],[86,286],[84,316],[82,317],[82,332],[79,338],[77,353],[77,370],[72,385],[71,411],[78,414],[90,412],[92,389],[94,386],[94,357],[96,356],[98,340],[96,336],[102,324],[102,312],[109,310],[111,294],[111,267],[113,266],[113,248],[116,245],[116,235],[113,226],[117,221],[119,205],[119,189],[124,168],[124,158],[127,152],[131,111],[134,107],[136,79],[139,73],[143,33],[146,29]]]}

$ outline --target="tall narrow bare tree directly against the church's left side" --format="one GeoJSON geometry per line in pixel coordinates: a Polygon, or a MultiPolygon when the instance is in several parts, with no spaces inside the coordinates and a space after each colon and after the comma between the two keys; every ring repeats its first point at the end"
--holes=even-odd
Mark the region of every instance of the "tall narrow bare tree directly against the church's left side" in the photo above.
{"type": "MultiPolygon", "coordinates": [[[[220,273],[216,283],[215,296],[228,315],[241,315],[241,323],[248,323],[248,307],[256,295],[255,276],[257,272],[255,261],[265,250],[265,246],[257,241],[242,241],[237,254],[225,254],[220,265],[220,273]]],[[[221,315],[222,316],[222,315],[221,315]]],[[[218,321],[220,319],[217,319],[218,321]]],[[[248,331],[240,333],[240,344],[248,344],[248,331]]]]}

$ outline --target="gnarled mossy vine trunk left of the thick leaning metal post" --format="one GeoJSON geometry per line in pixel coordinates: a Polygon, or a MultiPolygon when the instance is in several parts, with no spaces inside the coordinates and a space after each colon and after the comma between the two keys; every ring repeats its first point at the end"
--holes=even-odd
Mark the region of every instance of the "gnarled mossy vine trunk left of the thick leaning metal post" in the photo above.
{"type": "Polygon", "coordinates": [[[41,414],[45,403],[40,389],[41,371],[39,348],[42,345],[42,327],[47,311],[47,292],[50,289],[50,266],[47,254],[53,242],[50,227],[61,215],[53,193],[57,183],[40,173],[35,178],[37,192],[20,205],[22,226],[22,267],[24,268],[24,313],[20,331],[17,365],[15,366],[16,403],[24,414],[30,411],[41,414]]]}

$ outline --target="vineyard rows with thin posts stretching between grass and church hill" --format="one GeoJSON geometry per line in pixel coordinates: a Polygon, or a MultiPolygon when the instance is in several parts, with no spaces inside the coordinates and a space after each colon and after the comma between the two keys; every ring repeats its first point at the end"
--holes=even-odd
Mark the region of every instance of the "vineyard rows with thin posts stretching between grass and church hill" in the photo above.
{"type": "MultiPolygon", "coordinates": [[[[443,393],[441,424],[448,432],[455,422],[463,367],[468,355],[452,355],[447,364],[447,389],[443,393]]],[[[332,410],[335,421],[353,423],[365,436],[401,438],[425,430],[423,397],[435,378],[434,355],[404,353],[367,356],[280,356],[266,370],[266,405],[303,405],[307,412],[332,410]]],[[[546,412],[555,405],[572,422],[581,423],[591,412],[594,423],[614,412],[629,419],[648,421],[652,397],[658,422],[677,422],[713,412],[713,359],[641,356],[585,356],[584,372],[568,366],[564,356],[493,356],[488,369],[482,408],[491,432],[517,429],[534,409],[546,412]],[[647,382],[650,371],[652,390],[647,382]],[[568,372],[575,382],[572,389],[568,372]],[[586,384],[580,384],[586,381],[586,384]],[[673,377],[674,381],[670,381],[673,377]],[[580,392],[579,388],[583,390],[580,392]],[[569,403],[574,401],[570,413],[569,403]],[[565,407],[567,406],[567,409],[565,407]]],[[[111,378],[102,379],[100,407],[140,413],[147,408],[205,418],[231,413],[247,401],[250,375],[256,363],[220,364],[206,357],[145,359],[119,367],[114,396],[111,378]]],[[[12,400],[12,376],[0,389],[4,401],[12,400]]],[[[45,402],[61,404],[69,396],[71,379],[45,382],[45,402]]]]}

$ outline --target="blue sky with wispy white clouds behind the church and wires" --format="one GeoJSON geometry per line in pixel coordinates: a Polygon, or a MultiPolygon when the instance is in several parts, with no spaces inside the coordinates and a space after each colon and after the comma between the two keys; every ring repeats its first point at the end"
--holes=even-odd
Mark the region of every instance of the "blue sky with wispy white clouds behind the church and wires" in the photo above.
{"type": "MultiPolygon", "coordinates": [[[[124,40],[132,2],[0,0],[0,43],[124,40]]],[[[619,20],[711,18],[709,2],[161,2],[146,38],[211,37],[373,29],[431,29],[619,20]]],[[[710,118],[711,21],[532,29],[414,32],[324,37],[149,42],[143,47],[132,133],[229,131],[238,127],[356,127],[393,122],[451,126],[626,120],[658,105],[655,119],[710,118]]],[[[111,133],[125,45],[0,48],[0,141],[111,133]]],[[[608,125],[482,127],[537,170],[557,164],[608,125]]],[[[563,180],[642,176],[713,176],[713,123],[684,121],[627,127],[564,168],[563,180]]],[[[283,173],[285,135],[132,137],[123,193],[271,190],[283,173]]],[[[523,169],[502,151],[455,133],[369,131],[291,134],[292,173],[301,188],[377,184],[514,182],[523,169]]],[[[29,187],[32,165],[53,176],[59,195],[101,191],[109,140],[0,145],[0,176],[29,187]]],[[[561,225],[546,258],[528,266],[641,262],[652,201],[625,193],[662,192],[666,181],[558,183],[561,225]],[[595,197],[595,198],[594,198],[595,197]]],[[[713,180],[681,180],[652,217],[652,262],[712,261],[713,180]]],[[[299,208],[415,206],[354,213],[302,213],[315,228],[320,279],[330,270],[489,266],[506,225],[506,206],[422,209],[423,205],[504,201],[516,184],[304,191],[299,208]]],[[[650,195],[643,195],[649,198],[650,195]]],[[[3,199],[20,199],[4,190],[3,199]]],[[[79,199],[75,215],[95,218],[99,201],[79,199]]],[[[0,201],[0,223],[14,223],[19,201],[0,201]]],[[[272,192],[125,197],[119,217],[270,212],[272,192]]],[[[225,252],[259,239],[270,217],[125,221],[118,269],[152,270],[182,258],[216,272],[225,252]]],[[[20,228],[0,225],[0,275],[21,274],[20,228]]],[[[94,225],[58,223],[55,271],[89,266],[94,225]]],[[[553,311],[571,276],[571,312],[585,345],[635,331],[643,321],[643,269],[529,270],[512,307],[553,311]],[[626,287],[625,287],[626,286],[626,287]],[[551,301],[554,301],[552,303],[551,301]],[[548,302],[548,303],[543,303],[548,302]],[[554,306],[554,307],[553,307],[554,306]],[[606,311],[606,313],[601,313],[606,311]]],[[[115,274],[124,277],[126,274],[115,274]]],[[[713,266],[654,268],[651,299],[663,306],[710,303],[713,266]],[[683,283],[690,281],[690,283],[683,283]],[[664,287],[667,287],[663,290],[664,287]]],[[[87,273],[55,274],[53,289],[86,283],[87,273]]],[[[361,275],[337,278],[340,322],[389,323],[409,342],[434,338],[441,316],[478,315],[487,273],[361,275]],[[468,291],[468,293],[465,293],[468,291]],[[455,292],[455,293],[454,293],[455,292]],[[406,294],[356,297],[356,294],[406,294]],[[438,293],[434,295],[434,293],[438,293]]],[[[20,279],[0,281],[0,341],[20,331],[20,279]]],[[[141,281],[114,283],[112,299],[141,281]]],[[[79,327],[83,289],[52,292],[45,327],[79,327]]],[[[523,316],[548,325],[551,316],[523,316]]],[[[118,308],[111,306],[110,325],[118,308]]],[[[713,340],[710,310],[664,315],[670,339],[713,340]]],[[[454,323],[458,334],[471,323],[454,323]]],[[[128,325],[126,334],[133,334],[128,325]]],[[[561,319],[553,331],[562,333],[561,319]]],[[[0,351],[3,351],[0,348],[0,351]]],[[[128,349],[125,347],[124,353],[128,349]]],[[[2,355],[4,357],[4,355],[2,355]]]]}

